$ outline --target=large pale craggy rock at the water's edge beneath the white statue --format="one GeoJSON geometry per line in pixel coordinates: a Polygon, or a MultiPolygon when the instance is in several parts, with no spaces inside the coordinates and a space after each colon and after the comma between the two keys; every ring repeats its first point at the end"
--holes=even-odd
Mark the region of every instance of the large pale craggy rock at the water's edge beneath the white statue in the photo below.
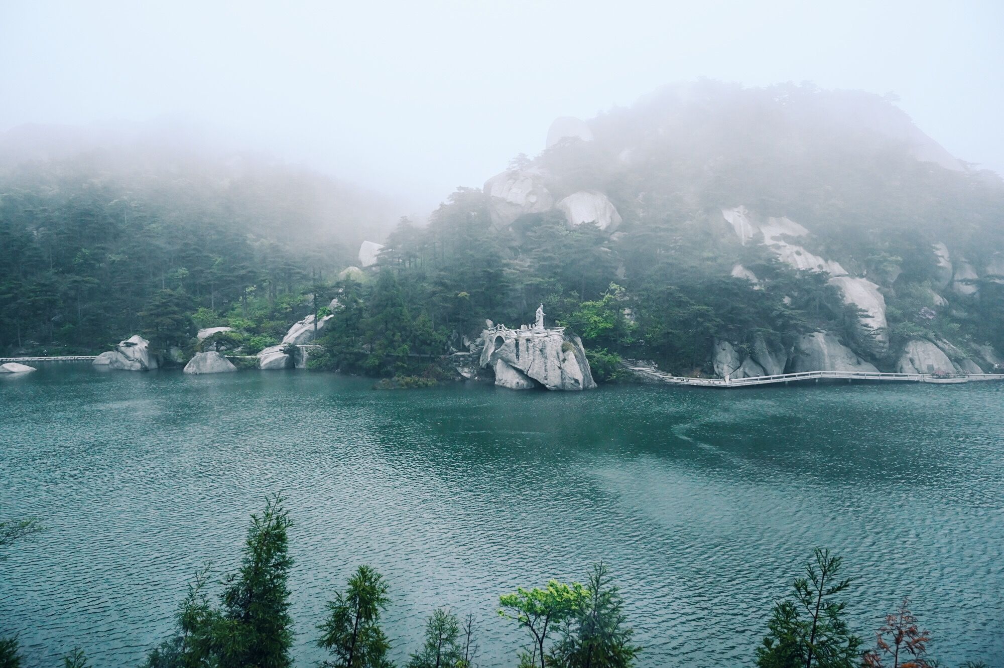
{"type": "Polygon", "coordinates": [[[535,381],[533,386],[542,385],[552,390],[582,390],[596,386],[582,341],[577,336],[566,335],[562,327],[514,330],[498,326],[482,332],[481,338],[484,340],[481,366],[501,370],[501,378],[495,376],[497,385],[518,385],[516,389],[526,389],[525,383],[517,381],[518,376],[511,374],[507,366],[535,381]],[[506,366],[498,367],[499,361],[506,366]]]}

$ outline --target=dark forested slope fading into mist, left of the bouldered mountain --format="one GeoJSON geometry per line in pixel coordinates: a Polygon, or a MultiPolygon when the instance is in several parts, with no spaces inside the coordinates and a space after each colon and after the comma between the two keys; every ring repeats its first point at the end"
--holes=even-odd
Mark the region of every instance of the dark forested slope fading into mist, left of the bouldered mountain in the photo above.
{"type": "MultiPolygon", "coordinates": [[[[170,136],[23,126],[0,135],[0,350],[187,336],[330,276],[386,233],[386,199],[170,136]]],[[[163,343],[167,343],[166,341],[163,343]]]]}

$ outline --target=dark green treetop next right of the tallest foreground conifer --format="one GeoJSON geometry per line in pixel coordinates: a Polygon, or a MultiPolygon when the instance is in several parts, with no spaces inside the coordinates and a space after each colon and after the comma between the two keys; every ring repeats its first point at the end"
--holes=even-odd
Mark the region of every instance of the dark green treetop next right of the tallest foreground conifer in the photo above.
{"type": "Polygon", "coordinates": [[[327,603],[327,619],[317,628],[317,645],[334,656],[322,665],[329,668],[390,668],[391,648],[380,627],[381,613],[390,599],[383,576],[360,566],[348,579],[345,591],[327,603]]]}

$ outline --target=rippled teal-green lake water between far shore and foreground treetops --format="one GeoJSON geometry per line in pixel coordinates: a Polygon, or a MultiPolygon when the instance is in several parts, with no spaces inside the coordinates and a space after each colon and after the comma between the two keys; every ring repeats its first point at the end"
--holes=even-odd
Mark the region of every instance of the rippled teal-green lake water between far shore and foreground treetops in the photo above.
{"type": "Polygon", "coordinates": [[[932,656],[1004,657],[1004,383],[381,391],[39,366],[0,378],[0,519],[47,528],[0,570],[0,633],[29,665],[74,646],[140,664],[275,490],[295,522],[298,666],[324,658],[315,626],[359,564],[390,584],[395,660],[446,606],[478,616],[492,668],[528,638],[498,596],[600,559],[640,665],[752,665],[816,546],[843,557],[867,642],[909,596],[932,656]]]}

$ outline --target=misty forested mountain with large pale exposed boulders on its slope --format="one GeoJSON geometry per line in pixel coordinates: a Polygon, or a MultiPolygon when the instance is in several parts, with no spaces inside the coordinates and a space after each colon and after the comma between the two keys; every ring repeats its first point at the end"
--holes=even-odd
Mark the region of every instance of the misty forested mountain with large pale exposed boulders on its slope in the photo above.
{"type": "Polygon", "coordinates": [[[809,85],[701,81],[559,118],[382,262],[437,322],[542,301],[587,348],[678,373],[989,369],[1004,344],[1001,180],[889,99],[809,85]]]}

